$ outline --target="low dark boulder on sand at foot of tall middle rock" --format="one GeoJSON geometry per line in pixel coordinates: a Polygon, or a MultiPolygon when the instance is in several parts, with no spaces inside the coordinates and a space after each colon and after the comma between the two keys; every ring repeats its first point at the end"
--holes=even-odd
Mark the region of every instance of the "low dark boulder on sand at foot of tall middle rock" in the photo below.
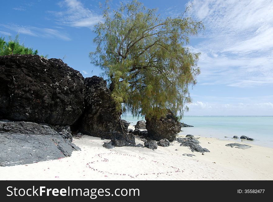
{"type": "Polygon", "coordinates": [[[135,135],[129,133],[129,134],[123,134],[123,133],[115,133],[114,139],[111,140],[112,145],[115,147],[134,147],[136,146],[135,142],[135,135]]]}

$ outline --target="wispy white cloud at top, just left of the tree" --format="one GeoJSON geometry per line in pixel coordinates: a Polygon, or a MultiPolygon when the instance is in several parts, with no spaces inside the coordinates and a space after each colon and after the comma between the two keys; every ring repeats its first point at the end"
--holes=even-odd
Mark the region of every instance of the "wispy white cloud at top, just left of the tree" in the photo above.
{"type": "Polygon", "coordinates": [[[64,11],[49,11],[58,17],[58,24],[70,27],[87,27],[92,28],[102,16],[86,8],[78,0],[64,0],[58,3],[64,11]]]}

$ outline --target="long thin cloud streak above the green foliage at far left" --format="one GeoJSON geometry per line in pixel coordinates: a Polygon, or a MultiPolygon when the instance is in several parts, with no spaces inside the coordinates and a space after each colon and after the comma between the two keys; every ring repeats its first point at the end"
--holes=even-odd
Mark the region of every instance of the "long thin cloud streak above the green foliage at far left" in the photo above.
{"type": "Polygon", "coordinates": [[[65,32],[60,32],[56,29],[51,28],[38,28],[34,26],[20,26],[16,24],[0,24],[0,26],[12,30],[14,32],[20,32],[22,34],[34,36],[34,37],[44,37],[44,38],[57,38],[65,41],[71,40],[69,35],[65,32]]]}

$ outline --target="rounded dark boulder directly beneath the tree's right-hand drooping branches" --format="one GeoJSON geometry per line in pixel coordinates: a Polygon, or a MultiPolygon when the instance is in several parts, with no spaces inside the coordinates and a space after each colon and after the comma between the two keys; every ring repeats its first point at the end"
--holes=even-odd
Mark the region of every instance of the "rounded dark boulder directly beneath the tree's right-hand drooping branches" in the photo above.
{"type": "Polygon", "coordinates": [[[152,140],[159,141],[166,138],[172,142],[181,129],[177,117],[174,116],[171,110],[168,110],[166,116],[160,119],[147,117],[145,119],[148,137],[152,140]]]}

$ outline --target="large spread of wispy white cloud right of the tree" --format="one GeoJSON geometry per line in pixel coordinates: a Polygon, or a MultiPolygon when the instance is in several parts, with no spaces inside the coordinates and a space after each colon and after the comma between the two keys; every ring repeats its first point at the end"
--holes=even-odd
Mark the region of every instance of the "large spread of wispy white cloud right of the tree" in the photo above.
{"type": "Polygon", "coordinates": [[[191,49],[201,52],[199,82],[273,86],[273,3],[268,0],[193,0],[188,15],[206,31],[191,49]]]}

